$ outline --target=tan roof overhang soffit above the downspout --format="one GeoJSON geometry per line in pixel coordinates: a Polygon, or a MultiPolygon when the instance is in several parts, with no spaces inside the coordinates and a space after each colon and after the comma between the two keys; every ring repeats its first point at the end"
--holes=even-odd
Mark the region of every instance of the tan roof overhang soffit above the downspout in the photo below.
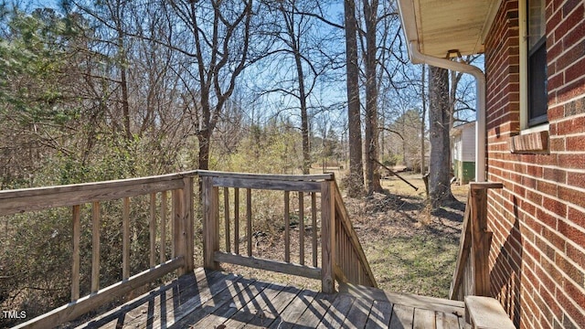
{"type": "MultiPolygon", "coordinates": [[[[484,52],[501,0],[398,0],[410,47],[448,58],[484,52]]],[[[409,56],[412,58],[409,47],[409,56]]]]}

